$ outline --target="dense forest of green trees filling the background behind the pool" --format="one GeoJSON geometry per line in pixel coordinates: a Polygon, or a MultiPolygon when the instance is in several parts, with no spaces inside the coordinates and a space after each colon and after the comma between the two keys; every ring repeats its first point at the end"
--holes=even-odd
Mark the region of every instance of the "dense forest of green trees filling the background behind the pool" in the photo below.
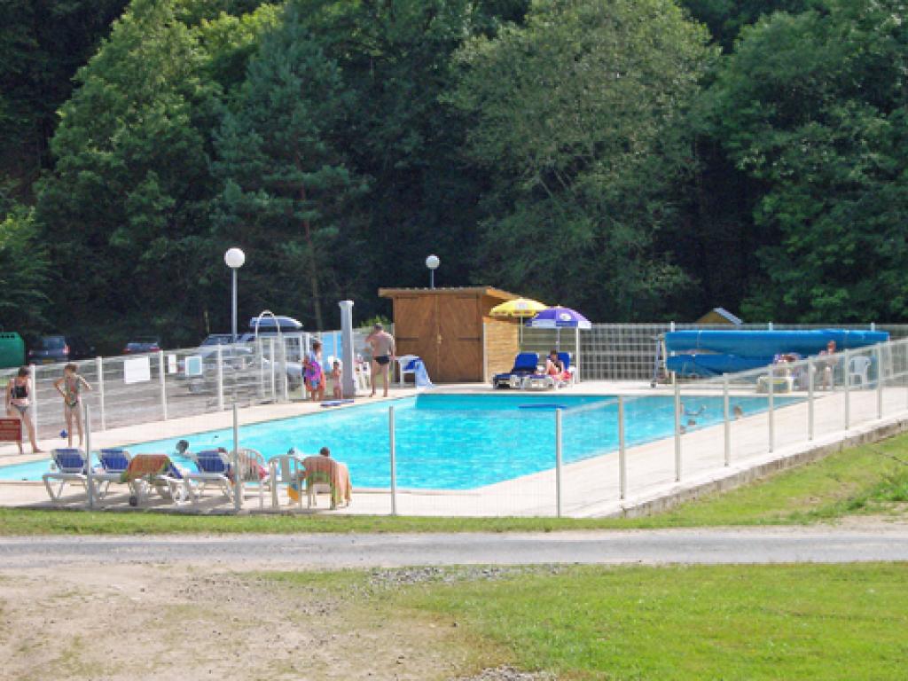
{"type": "Polygon", "coordinates": [[[902,0],[2,0],[0,326],[189,345],[488,284],[903,321],[902,0]]]}

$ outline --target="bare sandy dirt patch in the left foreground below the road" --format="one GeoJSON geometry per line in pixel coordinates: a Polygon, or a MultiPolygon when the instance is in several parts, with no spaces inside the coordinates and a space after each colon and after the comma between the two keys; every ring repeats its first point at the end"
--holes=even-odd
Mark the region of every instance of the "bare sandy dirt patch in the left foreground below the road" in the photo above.
{"type": "Polygon", "coordinates": [[[7,570],[0,676],[416,681],[476,668],[462,627],[389,619],[354,600],[198,567],[7,570]]]}

